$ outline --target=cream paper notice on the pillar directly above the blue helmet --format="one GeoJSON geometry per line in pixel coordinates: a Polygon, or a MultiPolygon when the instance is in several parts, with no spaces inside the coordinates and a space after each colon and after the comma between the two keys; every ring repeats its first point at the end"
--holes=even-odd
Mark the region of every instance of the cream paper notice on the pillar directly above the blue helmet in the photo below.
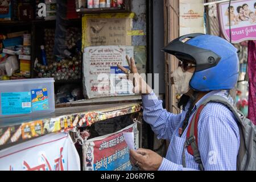
{"type": "Polygon", "coordinates": [[[180,36],[205,33],[204,1],[180,0],[180,36]]]}

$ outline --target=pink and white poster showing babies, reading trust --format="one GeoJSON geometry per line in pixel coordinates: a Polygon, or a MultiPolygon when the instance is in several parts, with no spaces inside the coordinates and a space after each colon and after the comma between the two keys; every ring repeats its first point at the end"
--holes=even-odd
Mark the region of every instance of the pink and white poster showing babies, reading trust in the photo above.
{"type": "Polygon", "coordinates": [[[231,32],[232,43],[256,40],[256,0],[232,1],[230,7],[229,2],[220,3],[219,14],[225,39],[230,40],[231,32]]]}

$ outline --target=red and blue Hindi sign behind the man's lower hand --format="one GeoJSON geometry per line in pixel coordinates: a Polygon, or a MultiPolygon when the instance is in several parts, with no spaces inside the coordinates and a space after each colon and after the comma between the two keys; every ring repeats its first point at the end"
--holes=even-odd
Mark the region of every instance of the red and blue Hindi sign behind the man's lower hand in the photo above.
{"type": "Polygon", "coordinates": [[[123,133],[134,133],[134,146],[138,149],[137,123],[114,134],[88,140],[83,147],[85,171],[130,171],[129,147],[123,133]]]}

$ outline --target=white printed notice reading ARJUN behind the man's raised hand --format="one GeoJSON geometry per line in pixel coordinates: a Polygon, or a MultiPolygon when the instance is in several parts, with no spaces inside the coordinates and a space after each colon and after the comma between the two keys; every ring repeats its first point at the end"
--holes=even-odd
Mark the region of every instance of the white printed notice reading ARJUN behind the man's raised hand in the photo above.
{"type": "Polygon", "coordinates": [[[84,86],[88,98],[133,94],[133,83],[121,80],[124,73],[117,64],[129,68],[126,55],[133,57],[132,46],[98,46],[84,49],[84,86]]]}

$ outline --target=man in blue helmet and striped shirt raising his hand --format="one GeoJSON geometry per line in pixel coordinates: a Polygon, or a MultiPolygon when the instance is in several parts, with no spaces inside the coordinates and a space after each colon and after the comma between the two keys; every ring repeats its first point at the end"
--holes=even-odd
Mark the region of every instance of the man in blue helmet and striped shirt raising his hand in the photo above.
{"type": "MultiPolygon", "coordinates": [[[[171,80],[176,93],[183,94],[179,101],[183,112],[172,114],[163,109],[162,101],[138,75],[134,59],[127,57],[134,74],[134,92],[142,93],[144,121],[159,139],[170,141],[166,158],[140,148],[130,150],[131,164],[146,171],[236,170],[240,131],[226,106],[211,102],[201,110],[197,127],[199,159],[184,150],[184,143],[189,123],[205,98],[218,95],[234,104],[229,90],[238,79],[237,49],[217,36],[189,34],[173,40],[163,51],[179,59],[179,68],[171,80]]],[[[130,73],[121,65],[118,67],[130,73]]]]}

